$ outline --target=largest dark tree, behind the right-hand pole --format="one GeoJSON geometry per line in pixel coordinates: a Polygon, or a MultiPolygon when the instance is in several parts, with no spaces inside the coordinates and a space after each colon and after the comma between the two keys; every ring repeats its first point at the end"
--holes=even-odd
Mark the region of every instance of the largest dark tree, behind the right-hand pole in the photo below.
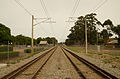
{"type": "MultiPolygon", "coordinates": [[[[71,33],[67,36],[69,40],[66,42],[71,42],[73,44],[84,44],[85,43],[85,21],[87,22],[87,35],[88,43],[97,43],[97,30],[96,25],[102,25],[100,21],[95,17],[95,13],[87,14],[85,16],[78,17],[75,25],[70,29],[71,33]]],[[[67,44],[67,43],[66,43],[67,44]]]]}

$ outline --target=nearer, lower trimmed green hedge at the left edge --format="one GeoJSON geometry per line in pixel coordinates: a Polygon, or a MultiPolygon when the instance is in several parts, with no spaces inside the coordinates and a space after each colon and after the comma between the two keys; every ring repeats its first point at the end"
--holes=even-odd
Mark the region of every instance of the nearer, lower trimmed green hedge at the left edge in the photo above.
{"type": "MultiPolygon", "coordinates": [[[[17,57],[19,56],[19,52],[10,52],[9,57],[17,57]]],[[[0,59],[8,58],[8,52],[0,52],[0,59]]]]}

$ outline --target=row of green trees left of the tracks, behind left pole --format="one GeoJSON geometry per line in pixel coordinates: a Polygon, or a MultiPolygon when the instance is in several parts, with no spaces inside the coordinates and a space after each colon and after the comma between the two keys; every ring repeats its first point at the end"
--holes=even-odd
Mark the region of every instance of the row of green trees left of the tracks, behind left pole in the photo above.
{"type": "MultiPolygon", "coordinates": [[[[0,45],[7,45],[8,41],[13,45],[31,45],[31,37],[27,37],[22,34],[13,36],[11,35],[10,28],[0,23],[0,45]]],[[[34,45],[39,44],[40,41],[47,41],[48,44],[54,44],[58,42],[55,37],[39,37],[34,39],[34,45]]]]}

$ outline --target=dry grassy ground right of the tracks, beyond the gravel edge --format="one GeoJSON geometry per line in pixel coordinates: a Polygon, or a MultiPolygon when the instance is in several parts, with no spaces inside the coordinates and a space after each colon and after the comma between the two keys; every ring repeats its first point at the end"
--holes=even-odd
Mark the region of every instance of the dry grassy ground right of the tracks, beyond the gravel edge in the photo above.
{"type": "Polygon", "coordinates": [[[92,49],[88,49],[88,54],[85,54],[84,47],[67,47],[72,51],[77,53],[82,53],[84,55],[90,56],[95,59],[100,59],[102,62],[112,64],[113,68],[120,69],[120,51],[119,50],[102,50],[100,52],[92,49]]]}

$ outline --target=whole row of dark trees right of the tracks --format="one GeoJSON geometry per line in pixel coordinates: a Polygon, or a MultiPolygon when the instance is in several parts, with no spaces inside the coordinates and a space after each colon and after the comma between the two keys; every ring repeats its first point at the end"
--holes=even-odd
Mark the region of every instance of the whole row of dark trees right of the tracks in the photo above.
{"type": "Polygon", "coordinates": [[[88,44],[96,45],[103,44],[106,45],[109,38],[114,34],[117,35],[115,39],[118,40],[120,45],[120,25],[114,26],[110,19],[105,20],[103,23],[96,18],[97,14],[91,13],[85,16],[78,17],[74,26],[70,29],[70,34],[67,36],[65,44],[73,45],[85,44],[85,21],[87,24],[87,35],[88,35],[88,44]],[[102,31],[100,28],[102,27],[102,31]]]}

